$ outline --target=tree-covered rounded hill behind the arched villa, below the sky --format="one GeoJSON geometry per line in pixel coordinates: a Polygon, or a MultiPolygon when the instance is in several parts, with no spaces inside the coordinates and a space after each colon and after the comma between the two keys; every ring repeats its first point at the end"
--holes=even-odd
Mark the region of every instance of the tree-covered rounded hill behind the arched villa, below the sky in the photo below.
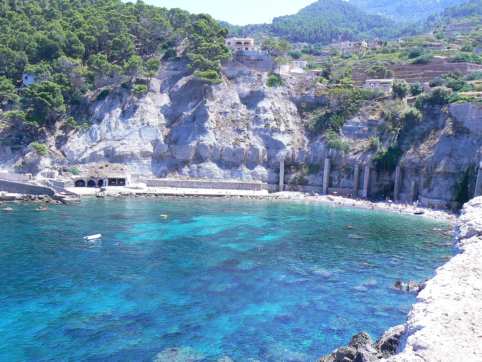
{"type": "Polygon", "coordinates": [[[401,26],[384,15],[367,14],[360,7],[342,0],[319,0],[297,14],[273,19],[272,24],[234,26],[229,36],[270,35],[291,42],[329,44],[342,35],[347,40],[392,38],[401,34],[401,26]]]}

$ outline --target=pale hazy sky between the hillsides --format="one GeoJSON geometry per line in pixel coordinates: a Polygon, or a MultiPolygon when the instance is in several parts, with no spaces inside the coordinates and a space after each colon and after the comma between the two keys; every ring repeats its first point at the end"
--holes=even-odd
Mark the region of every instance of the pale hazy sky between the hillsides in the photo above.
{"type": "MultiPolygon", "coordinates": [[[[135,0],[131,0],[135,2],[135,0]]],[[[144,0],[146,4],[206,13],[233,25],[269,23],[276,16],[296,14],[316,0],[144,0]]]]}

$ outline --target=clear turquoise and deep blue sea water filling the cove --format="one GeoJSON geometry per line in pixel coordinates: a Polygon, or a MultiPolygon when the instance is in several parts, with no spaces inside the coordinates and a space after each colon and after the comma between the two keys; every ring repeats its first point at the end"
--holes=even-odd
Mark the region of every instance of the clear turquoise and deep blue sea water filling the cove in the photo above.
{"type": "Polygon", "coordinates": [[[316,361],[404,322],[415,294],[390,286],[451,253],[448,225],[371,210],[83,200],[0,211],[0,361],[316,361]]]}

